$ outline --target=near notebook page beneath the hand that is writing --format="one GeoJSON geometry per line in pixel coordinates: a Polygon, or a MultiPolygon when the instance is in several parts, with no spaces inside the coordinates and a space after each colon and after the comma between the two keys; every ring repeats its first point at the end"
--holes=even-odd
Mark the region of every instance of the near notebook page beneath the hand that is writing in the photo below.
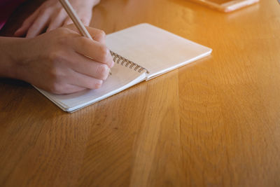
{"type": "Polygon", "coordinates": [[[102,87],[97,90],[85,90],[69,95],[55,95],[38,88],[36,89],[52,102],[55,102],[62,110],[71,112],[114,95],[146,78],[146,73],[133,71],[117,63],[111,69],[111,74],[104,81],[102,87]]]}

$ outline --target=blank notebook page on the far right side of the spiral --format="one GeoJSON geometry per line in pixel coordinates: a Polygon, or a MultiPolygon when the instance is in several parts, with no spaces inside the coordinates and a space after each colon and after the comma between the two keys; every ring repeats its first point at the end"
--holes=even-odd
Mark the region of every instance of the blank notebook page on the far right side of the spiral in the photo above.
{"type": "Polygon", "coordinates": [[[109,34],[106,43],[113,52],[148,69],[148,79],[211,53],[210,48],[149,24],[109,34]]]}

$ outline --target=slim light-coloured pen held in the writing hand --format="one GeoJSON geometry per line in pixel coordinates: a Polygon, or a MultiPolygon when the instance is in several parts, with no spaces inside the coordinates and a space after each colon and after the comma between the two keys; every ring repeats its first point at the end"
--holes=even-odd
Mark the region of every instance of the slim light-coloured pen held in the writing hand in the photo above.
{"type": "MultiPolygon", "coordinates": [[[[76,11],[73,9],[71,4],[68,0],[59,0],[60,4],[62,4],[63,8],[65,9],[66,13],[69,15],[71,20],[73,21],[74,25],[78,28],[80,34],[87,37],[88,39],[92,39],[92,36],[90,36],[90,33],[87,32],[87,29],[85,29],[85,26],[83,25],[83,22],[80,21],[80,18],[78,18],[78,15],[76,11]]],[[[111,75],[111,69],[109,74],[111,75]]]]}

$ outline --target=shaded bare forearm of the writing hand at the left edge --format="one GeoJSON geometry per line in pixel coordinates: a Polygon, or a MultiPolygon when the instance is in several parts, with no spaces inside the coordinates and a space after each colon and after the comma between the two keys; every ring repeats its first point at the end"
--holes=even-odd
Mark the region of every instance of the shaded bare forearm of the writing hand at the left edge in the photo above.
{"type": "Polygon", "coordinates": [[[0,77],[18,78],[17,62],[20,38],[0,37],[0,77]]]}

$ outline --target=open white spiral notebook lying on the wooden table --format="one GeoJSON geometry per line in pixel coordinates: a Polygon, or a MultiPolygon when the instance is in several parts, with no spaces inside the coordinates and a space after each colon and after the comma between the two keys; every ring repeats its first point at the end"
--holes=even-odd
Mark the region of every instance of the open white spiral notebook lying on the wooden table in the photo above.
{"type": "Polygon", "coordinates": [[[109,34],[106,44],[115,66],[101,88],[70,95],[36,89],[60,109],[73,112],[211,53],[211,48],[146,23],[109,34]]]}

